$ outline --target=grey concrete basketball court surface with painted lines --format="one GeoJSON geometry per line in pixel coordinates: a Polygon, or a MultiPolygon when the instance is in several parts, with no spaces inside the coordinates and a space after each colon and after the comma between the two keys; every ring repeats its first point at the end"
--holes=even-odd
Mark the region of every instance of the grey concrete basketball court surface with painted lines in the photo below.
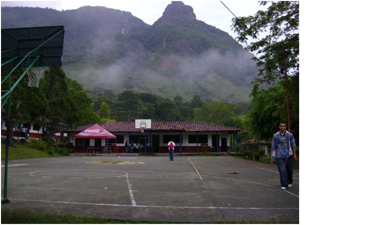
{"type": "MultiPolygon", "coordinates": [[[[3,183],[4,161],[2,198],[3,183]]],[[[275,164],[230,156],[9,160],[8,199],[3,208],[122,220],[299,221],[299,170],[283,191],[275,164]]]]}

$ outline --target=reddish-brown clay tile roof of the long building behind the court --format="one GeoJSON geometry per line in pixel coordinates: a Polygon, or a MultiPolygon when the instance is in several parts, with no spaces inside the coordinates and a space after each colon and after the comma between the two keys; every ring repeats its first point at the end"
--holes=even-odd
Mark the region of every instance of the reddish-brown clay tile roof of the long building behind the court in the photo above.
{"type": "MultiPolygon", "coordinates": [[[[81,132],[93,124],[82,125],[74,129],[64,130],[64,133],[81,132]]],[[[135,122],[106,122],[99,124],[108,132],[140,132],[135,129],[135,122]]],[[[183,131],[183,132],[240,132],[240,128],[227,127],[215,124],[200,123],[196,121],[153,121],[150,131],[183,131]]]]}

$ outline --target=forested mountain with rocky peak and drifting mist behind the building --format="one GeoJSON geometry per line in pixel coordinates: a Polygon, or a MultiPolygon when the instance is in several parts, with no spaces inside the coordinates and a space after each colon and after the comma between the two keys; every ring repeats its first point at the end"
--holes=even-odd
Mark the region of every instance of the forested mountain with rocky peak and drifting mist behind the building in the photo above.
{"type": "Polygon", "coordinates": [[[249,98],[258,73],[253,54],[182,2],[169,4],[153,25],[105,7],[2,7],[2,28],[56,25],[65,29],[63,70],[88,90],[238,102],[249,98]]]}

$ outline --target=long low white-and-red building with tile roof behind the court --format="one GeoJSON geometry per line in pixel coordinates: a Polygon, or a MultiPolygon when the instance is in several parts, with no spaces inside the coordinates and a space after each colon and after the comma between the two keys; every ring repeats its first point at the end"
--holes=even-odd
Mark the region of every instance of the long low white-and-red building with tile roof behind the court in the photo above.
{"type": "MultiPolygon", "coordinates": [[[[82,125],[73,129],[63,130],[70,134],[70,142],[74,144],[76,152],[87,152],[90,147],[113,148],[118,152],[126,152],[126,142],[139,146],[142,152],[168,152],[168,142],[172,138],[176,143],[175,152],[213,152],[227,151],[234,148],[239,128],[195,121],[163,121],[151,122],[151,129],[142,133],[135,128],[135,122],[106,122],[99,125],[112,133],[116,139],[75,139],[74,136],[93,124],[82,125]],[[113,147],[112,147],[113,146],[113,147]],[[141,146],[143,146],[141,148],[141,146]]],[[[137,150],[138,152],[139,150],[137,150]]],[[[136,152],[136,148],[134,150],[136,152]]]]}

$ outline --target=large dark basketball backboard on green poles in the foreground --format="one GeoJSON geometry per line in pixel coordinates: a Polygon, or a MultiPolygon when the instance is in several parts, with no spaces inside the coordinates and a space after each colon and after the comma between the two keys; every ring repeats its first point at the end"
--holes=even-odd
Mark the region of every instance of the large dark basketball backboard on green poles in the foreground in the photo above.
{"type": "Polygon", "coordinates": [[[30,58],[24,60],[20,67],[28,67],[38,55],[41,58],[34,67],[61,67],[63,39],[63,26],[2,29],[2,65],[18,57],[4,65],[6,68],[14,68],[29,52],[48,41],[29,54],[30,58]]]}

